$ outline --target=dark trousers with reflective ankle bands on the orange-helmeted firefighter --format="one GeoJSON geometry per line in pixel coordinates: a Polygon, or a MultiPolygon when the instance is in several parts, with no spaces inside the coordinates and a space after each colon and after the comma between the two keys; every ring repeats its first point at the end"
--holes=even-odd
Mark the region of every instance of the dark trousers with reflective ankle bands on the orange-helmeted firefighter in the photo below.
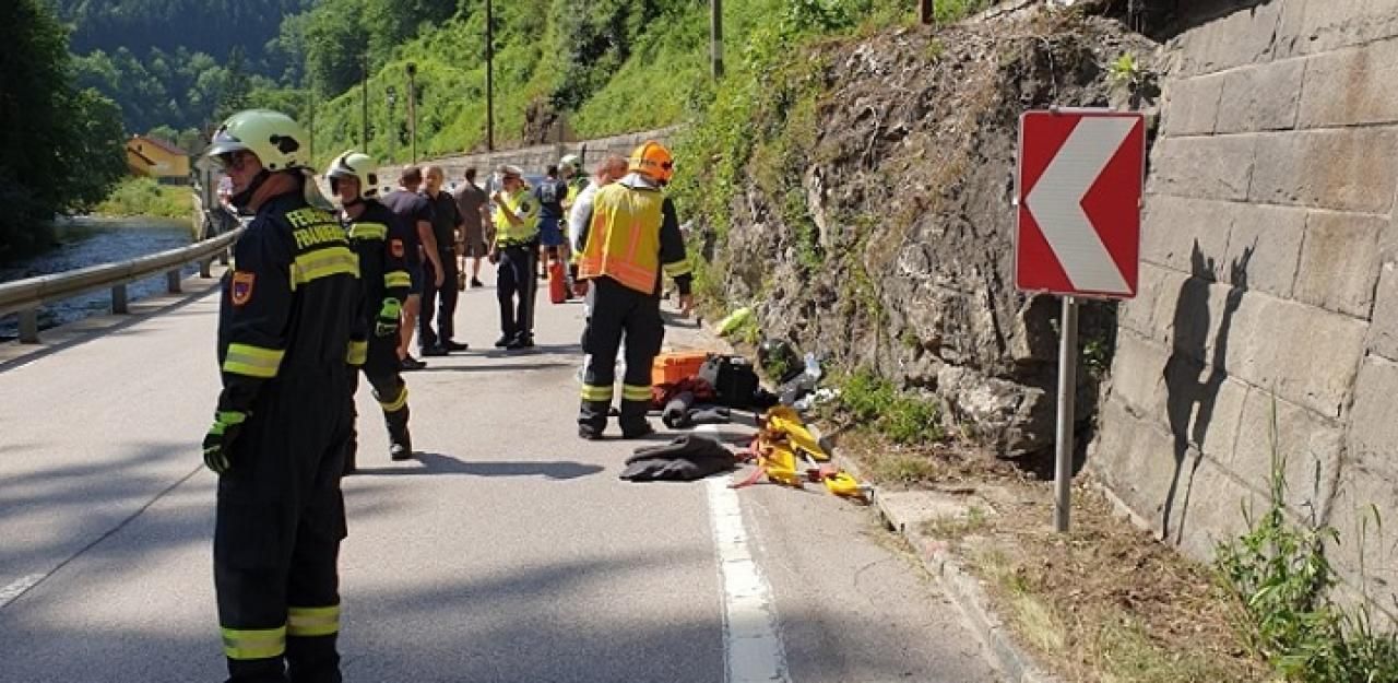
{"type": "Polygon", "coordinates": [[[632,435],[647,430],[650,409],[650,365],[665,340],[660,318],[660,295],[625,287],[610,277],[591,280],[591,314],[583,332],[583,400],[577,413],[582,430],[601,434],[607,428],[614,385],[617,353],[626,340],[626,376],[621,390],[621,431],[632,435]]]}

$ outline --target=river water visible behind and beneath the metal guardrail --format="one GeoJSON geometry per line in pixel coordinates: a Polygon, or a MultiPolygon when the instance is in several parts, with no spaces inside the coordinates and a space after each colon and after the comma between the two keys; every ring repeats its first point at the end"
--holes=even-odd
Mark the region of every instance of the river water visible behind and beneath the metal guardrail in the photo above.
{"type": "MultiPolygon", "coordinates": [[[[63,273],[99,263],[115,263],[190,244],[189,221],[164,218],[73,218],[57,225],[60,246],[29,259],[0,266],[0,283],[63,273]]],[[[186,265],[185,274],[199,272],[186,265]]],[[[127,297],[138,301],[165,291],[165,274],[126,286],[127,297]]],[[[110,290],[96,290],[39,308],[39,329],[70,323],[112,309],[110,290]]],[[[0,340],[18,336],[18,318],[0,316],[0,340]]]]}

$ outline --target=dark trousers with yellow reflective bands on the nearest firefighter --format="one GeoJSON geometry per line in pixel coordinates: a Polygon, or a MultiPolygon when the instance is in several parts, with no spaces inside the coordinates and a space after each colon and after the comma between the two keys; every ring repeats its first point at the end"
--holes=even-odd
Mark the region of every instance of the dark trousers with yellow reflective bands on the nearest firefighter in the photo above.
{"type": "Polygon", "coordinates": [[[344,367],[261,388],[218,479],[214,586],[229,683],[340,683],[344,367]],[[324,376],[319,376],[324,375],[324,376]],[[232,652],[229,652],[232,655],[232,652]]]}

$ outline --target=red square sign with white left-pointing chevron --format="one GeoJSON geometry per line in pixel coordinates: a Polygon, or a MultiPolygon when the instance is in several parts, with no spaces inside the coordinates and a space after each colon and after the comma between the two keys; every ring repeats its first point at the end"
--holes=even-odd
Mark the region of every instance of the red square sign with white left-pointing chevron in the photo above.
{"type": "Polygon", "coordinates": [[[1028,112],[1021,119],[1015,286],[1134,297],[1145,118],[1028,112]]]}

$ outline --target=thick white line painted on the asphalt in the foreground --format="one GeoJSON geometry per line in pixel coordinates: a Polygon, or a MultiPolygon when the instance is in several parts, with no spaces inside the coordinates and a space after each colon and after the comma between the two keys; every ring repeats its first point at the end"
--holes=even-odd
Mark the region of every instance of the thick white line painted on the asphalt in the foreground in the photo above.
{"type": "Polygon", "coordinates": [[[790,683],[786,648],[777,634],[776,603],[748,547],[738,491],[728,484],[728,477],[707,480],[709,519],[723,581],[724,680],[790,683]]]}

